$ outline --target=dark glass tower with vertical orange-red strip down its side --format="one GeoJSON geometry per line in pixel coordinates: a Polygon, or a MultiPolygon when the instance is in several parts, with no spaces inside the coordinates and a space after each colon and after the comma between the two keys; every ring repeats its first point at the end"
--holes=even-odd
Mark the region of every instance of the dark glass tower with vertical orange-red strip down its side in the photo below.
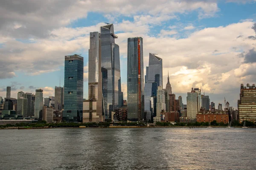
{"type": "Polygon", "coordinates": [[[144,119],[143,38],[128,38],[127,111],[129,121],[144,119]]]}

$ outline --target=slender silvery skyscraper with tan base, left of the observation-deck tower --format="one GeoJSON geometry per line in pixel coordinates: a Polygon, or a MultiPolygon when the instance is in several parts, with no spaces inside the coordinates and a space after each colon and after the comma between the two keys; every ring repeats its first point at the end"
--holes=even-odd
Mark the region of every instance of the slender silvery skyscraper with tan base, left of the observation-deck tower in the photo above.
{"type": "Polygon", "coordinates": [[[83,102],[83,122],[104,122],[102,113],[101,37],[90,33],[88,100],[83,102]]]}

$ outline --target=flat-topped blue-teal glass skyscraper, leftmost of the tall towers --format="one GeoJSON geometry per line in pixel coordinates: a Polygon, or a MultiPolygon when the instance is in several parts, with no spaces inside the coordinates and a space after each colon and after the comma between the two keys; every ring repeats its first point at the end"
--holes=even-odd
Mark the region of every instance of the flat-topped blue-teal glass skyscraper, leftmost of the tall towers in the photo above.
{"type": "Polygon", "coordinates": [[[84,58],[74,54],[65,56],[64,66],[64,111],[65,122],[82,122],[84,58]]]}

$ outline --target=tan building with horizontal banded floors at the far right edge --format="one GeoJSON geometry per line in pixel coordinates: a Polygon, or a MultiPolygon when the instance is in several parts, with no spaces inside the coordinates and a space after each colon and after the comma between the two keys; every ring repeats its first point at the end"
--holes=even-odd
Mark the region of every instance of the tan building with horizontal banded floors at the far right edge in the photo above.
{"type": "Polygon", "coordinates": [[[240,87],[240,99],[238,100],[239,122],[256,122],[256,87],[255,84],[247,84],[240,87]]]}

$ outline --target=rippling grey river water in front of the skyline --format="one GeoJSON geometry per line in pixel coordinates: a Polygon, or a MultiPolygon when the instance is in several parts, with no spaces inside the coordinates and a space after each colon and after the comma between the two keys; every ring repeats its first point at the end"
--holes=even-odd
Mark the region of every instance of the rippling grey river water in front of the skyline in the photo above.
{"type": "Polygon", "coordinates": [[[256,128],[0,130],[1,170],[256,170],[256,128]]]}

